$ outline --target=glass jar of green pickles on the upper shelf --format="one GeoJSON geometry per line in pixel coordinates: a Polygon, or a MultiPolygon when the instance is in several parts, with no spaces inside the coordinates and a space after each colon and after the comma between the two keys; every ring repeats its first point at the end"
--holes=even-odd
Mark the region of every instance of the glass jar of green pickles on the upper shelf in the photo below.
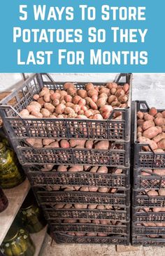
{"type": "Polygon", "coordinates": [[[0,143],[0,186],[13,188],[24,181],[25,176],[17,156],[5,143],[0,143]],[[19,169],[18,169],[19,167],[19,169]]]}

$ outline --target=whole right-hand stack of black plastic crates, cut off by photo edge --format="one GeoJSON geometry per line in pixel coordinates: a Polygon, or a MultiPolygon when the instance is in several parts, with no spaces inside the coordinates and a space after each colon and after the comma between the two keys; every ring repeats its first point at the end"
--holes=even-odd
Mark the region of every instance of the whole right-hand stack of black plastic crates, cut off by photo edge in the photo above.
{"type": "Polygon", "coordinates": [[[152,150],[143,151],[143,146],[149,145],[137,141],[139,110],[145,113],[150,108],[145,101],[134,102],[132,243],[133,245],[165,245],[165,154],[154,153],[152,150]]]}

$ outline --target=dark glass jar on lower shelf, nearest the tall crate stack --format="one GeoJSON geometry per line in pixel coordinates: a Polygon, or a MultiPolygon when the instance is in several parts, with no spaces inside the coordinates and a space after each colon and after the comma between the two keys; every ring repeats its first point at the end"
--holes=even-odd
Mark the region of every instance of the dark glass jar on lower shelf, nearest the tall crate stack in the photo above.
{"type": "Polygon", "coordinates": [[[20,208],[19,217],[22,219],[24,228],[29,233],[37,233],[46,225],[41,209],[38,207],[32,191],[29,191],[27,198],[24,200],[20,208]]]}

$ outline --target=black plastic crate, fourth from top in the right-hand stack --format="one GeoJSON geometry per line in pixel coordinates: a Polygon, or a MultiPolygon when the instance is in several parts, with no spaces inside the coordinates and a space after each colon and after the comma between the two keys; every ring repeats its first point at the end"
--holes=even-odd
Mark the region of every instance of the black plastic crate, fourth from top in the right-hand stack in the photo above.
{"type": "Polygon", "coordinates": [[[132,220],[133,222],[165,222],[165,212],[146,212],[142,207],[139,212],[139,208],[132,208],[132,220]]]}

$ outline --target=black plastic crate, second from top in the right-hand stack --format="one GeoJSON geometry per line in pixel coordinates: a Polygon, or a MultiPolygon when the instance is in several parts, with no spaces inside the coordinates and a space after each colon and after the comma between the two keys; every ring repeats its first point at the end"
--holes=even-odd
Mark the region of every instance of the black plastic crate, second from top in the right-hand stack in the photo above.
{"type": "Polygon", "coordinates": [[[134,169],[134,189],[162,189],[165,188],[165,177],[157,174],[143,176],[142,172],[149,173],[145,169],[134,169]]]}

